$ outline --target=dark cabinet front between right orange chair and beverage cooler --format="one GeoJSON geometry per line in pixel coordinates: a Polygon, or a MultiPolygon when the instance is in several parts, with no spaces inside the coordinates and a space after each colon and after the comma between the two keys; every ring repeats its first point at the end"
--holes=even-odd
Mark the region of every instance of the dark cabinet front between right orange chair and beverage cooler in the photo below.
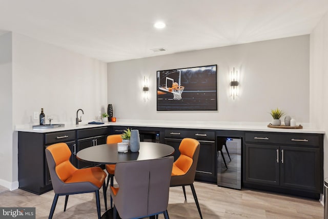
{"type": "Polygon", "coordinates": [[[214,141],[199,141],[200,149],[198,163],[196,167],[196,175],[216,176],[215,171],[215,142],[214,141]]]}

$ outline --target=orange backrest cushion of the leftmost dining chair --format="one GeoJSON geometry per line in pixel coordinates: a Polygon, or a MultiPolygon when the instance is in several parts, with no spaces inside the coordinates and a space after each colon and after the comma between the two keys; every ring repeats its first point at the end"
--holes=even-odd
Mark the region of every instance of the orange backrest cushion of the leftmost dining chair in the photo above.
{"type": "Polygon", "coordinates": [[[70,162],[71,150],[66,143],[50,145],[47,149],[56,163],[55,171],[58,177],[65,182],[77,170],[70,162]]]}

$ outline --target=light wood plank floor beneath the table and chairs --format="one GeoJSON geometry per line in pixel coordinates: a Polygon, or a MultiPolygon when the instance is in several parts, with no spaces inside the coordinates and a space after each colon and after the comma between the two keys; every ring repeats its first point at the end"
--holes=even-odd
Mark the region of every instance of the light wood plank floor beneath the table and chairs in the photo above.
{"type": "MultiPolygon", "coordinates": [[[[194,183],[204,219],[211,218],[323,218],[319,201],[252,190],[221,188],[213,184],[194,183]]],[[[105,212],[100,190],[101,214],[105,212]]],[[[199,218],[191,193],[186,187],[187,201],[181,187],[170,188],[168,212],[171,219],[199,218]]],[[[48,218],[53,191],[35,195],[20,189],[0,194],[0,207],[35,207],[36,218],[48,218]]],[[[108,196],[109,197],[109,196],[108,196]]],[[[94,193],[70,195],[64,212],[65,196],[59,196],[53,218],[96,218],[94,193]]],[[[110,202],[108,200],[108,205],[110,202]]],[[[162,215],[159,218],[164,218],[162,215]]]]}

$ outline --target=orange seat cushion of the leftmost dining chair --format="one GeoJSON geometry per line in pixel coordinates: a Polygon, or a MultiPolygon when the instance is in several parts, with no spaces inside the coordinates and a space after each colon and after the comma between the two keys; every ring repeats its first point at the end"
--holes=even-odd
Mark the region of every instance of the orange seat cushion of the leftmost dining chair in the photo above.
{"type": "Polygon", "coordinates": [[[100,167],[90,167],[76,170],[65,183],[90,182],[100,188],[106,178],[106,173],[100,167]]]}

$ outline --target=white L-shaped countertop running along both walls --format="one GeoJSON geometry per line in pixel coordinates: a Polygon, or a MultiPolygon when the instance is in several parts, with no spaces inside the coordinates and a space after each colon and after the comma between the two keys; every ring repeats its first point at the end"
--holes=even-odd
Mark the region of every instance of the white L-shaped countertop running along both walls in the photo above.
{"type": "MultiPolygon", "coordinates": [[[[237,130],[237,131],[265,131],[265,132],[290,132],[290,133],[318,133],[324,134],[325,131],[310,126],[309,124],[301,124],[302,129],[281,129],[269,128],[269,123],[248,123],[248,122],[192,122],[192,121],[162,121],[162,120],[119,120],[117,122],[107,122],[101,125],[89,125],[80,123],[79,125],[65,124],[63,128],[50,129],[33,129],[32,125],[16,125],[15,131],[23,132],[56,132],[77,130],[86,128],[106,127],[106,126],[138,126],[138,127],[160,127],[160,128],[186,128],[186,129],[212,129],[212,130],[237,130]]],[[[91,122],[91,121],[90,121],[91,122]]],[[[33,124],[34,125],[34,124],[33,124]]],[[[296,124],[297,126],[300,124],[296,124]]]]}

